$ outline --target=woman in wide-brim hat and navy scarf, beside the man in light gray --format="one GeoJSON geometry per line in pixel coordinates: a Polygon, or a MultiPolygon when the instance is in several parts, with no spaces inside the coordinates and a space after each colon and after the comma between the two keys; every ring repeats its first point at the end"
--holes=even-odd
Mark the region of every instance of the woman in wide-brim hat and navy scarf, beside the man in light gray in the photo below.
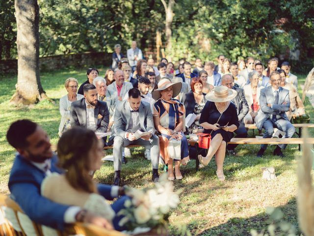
{"type": "Polygon", "coordinates": [[[182,132],[184,128],[185,109],[176,97],[181,90],[182,84],[171,83],[168,79],[158,82],[158,89],[153,91],[153,98],[157,100],[154,104],[154,124],[158,131],[160,141],[160,154],[165,164],[168,164],[168,179],[182,179],[180,165],[186,165],[189,161],[188,143],[182,132]],[[168,154],[168,144],[172,139],[181,141],[181,160],[175,161],[175,173],[173,172],[174,160],[168,154]]]}

